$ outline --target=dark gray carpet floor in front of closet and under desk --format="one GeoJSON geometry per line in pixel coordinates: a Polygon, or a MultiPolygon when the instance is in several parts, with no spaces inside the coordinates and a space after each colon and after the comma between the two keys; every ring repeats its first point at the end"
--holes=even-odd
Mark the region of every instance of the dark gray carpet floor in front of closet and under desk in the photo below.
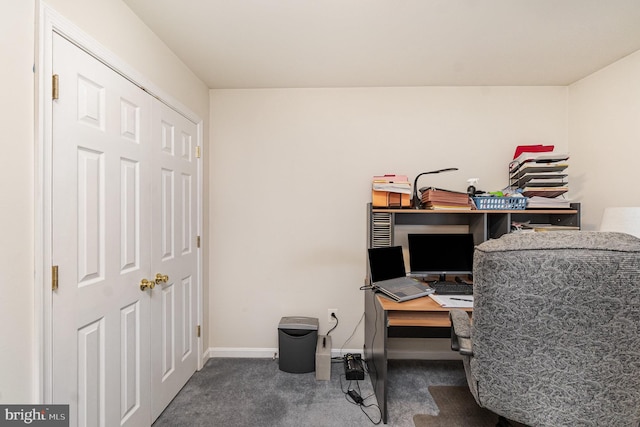
{"type": "MultiPolygon", "coordinates": [[[[428,392],[430,385],[464,384],[461,362],[390,360],[387,425],[414,427],[414,415],[437,414],[437,406],[428,392]]],[[[351,384],[351,388],[358,386],[366,408],[350,403],[345,397],[343,391],[347,391],[349,382],[344,379],[341,361],[332,364],[330,381],[316,381],[313,372],[280,371],[277,360],[210,359],[153,426],[374,425],[380,420],[380,413],[369,377],[351,384]]]]}

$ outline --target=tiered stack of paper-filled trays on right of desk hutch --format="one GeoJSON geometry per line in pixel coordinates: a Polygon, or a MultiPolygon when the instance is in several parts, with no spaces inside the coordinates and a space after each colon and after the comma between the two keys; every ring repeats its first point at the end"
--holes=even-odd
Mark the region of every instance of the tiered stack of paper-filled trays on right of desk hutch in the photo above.
{"type": "Polygon", "coordinates": [[[509,186],[526,197],[557,198],[569,190],[568,159],[555,151],[522,152],[509,164],[509,186]]]}

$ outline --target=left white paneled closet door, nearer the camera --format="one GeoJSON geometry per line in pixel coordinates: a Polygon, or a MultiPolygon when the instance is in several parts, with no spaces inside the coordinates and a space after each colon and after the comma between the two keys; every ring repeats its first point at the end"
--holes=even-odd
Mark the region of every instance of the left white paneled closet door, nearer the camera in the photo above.
{"type": "Polygon", "coordinates": [[[72,426],[148,426],[153,98],[53,38],[53,400],[72,426]]]}

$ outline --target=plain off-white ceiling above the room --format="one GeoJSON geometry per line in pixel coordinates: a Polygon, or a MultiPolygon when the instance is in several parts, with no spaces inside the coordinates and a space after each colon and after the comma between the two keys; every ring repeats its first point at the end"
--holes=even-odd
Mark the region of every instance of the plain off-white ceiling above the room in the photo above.
{"type": "Polygon", "coordinates": [[[210,88],[567,85],[638,0],[123,0],[210,88]]]}

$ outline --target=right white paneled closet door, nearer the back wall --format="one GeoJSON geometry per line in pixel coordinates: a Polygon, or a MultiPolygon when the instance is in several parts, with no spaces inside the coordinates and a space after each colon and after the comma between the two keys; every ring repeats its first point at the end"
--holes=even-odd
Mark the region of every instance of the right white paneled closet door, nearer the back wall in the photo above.
{"type": "Polygon", "coordinates": [[[154,274],[168,276],[152,296],[152,419],[195,372],[197,345],[197,126],[162,103],[153,106],[154,274]]]}

